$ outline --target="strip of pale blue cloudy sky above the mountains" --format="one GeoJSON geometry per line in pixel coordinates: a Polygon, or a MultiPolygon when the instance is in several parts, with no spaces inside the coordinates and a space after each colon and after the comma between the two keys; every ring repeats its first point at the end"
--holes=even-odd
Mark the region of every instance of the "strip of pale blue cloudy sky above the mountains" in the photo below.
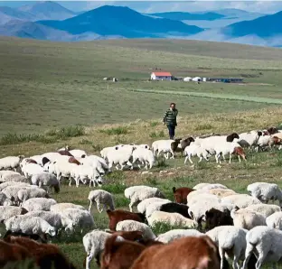
{"type": "MultiPolygon", "coordinates": [[[[273,14],[282,10],[282,1],[56,1],[59,4],[74,10],[84,11],[101,5],[126,5],[142,13],[164,11],[199,12],[222,8],[237,8],[262,14],[273,14]]],[[[33,3],[32,1],[0,1],[0,5],[16,7],[33,3]]]]}

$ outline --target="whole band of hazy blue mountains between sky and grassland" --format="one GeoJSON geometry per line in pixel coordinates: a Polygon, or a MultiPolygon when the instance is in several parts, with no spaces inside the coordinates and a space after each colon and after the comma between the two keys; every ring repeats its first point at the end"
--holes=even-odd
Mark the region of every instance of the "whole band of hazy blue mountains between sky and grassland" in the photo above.
{"type": "Polygon", "coordinates": [[[52,2],[18,8],[0,6],[0,35],[50,41],[112,38],[183,38],[282,46],[282,12],[239,9],[140,14],[127,6],[104,5],[83,13],[52,2]]]}

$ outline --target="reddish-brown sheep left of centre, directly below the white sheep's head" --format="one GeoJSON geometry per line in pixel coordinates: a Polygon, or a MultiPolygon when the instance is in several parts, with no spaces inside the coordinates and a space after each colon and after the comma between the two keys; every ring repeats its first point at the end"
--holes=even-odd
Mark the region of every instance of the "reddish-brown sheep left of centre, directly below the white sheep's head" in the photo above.
{"type": "Polygon", "coordinates": [[[122,220],[132,219],[143,223],[146,221],[146,217],[142,213],[133,213],[121,209],[114,211],[107,210],[107,214],[109,219],[108,227],[113,231],[116,230],[118,222],[122,220]]]}

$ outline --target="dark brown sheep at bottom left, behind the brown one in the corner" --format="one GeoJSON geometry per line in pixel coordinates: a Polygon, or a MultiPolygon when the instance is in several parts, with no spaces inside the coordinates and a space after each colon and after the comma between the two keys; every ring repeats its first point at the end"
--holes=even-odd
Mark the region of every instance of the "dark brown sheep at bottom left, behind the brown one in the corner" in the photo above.
{"type": "Polygon", "coordinates": [[[35,262],[34,267],[44,269],[76,269],[73,264],[61,253],[58,246],[41,244],[27,237],[6,237],[5,241],[13,246],[24,247],[35,262]],[[37,266],[36,266],[37,265],[37,266]]]}

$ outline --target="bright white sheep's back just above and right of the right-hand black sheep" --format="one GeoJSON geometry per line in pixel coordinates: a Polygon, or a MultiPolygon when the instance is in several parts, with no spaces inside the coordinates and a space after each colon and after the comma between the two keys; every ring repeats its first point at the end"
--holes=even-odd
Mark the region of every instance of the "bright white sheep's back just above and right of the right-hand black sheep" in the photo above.
{"type": "Polygon", "coordinates": [[[231,208],[237,206],[240,209],[244,209],[250,205],[261,204],[261,202],[259,199],[251,197],[248,194],[235,194],[221,198],[221,204],[225,206],[230,205],[231,208]]]}

